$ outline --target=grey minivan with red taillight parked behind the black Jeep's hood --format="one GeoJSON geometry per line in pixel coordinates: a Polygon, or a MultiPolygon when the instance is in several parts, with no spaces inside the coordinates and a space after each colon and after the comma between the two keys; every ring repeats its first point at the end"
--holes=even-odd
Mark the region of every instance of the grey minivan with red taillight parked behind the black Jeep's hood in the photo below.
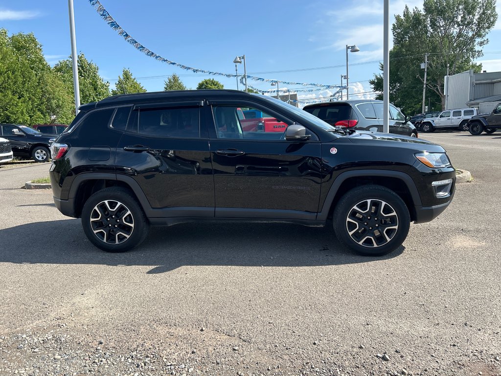
{"type": "MultiPolygon", "coordinates": [[[[350,99],[345,101],[309,104],[303,110],[325,122],[356,130],[383,131],[383,101],[350,99]]],[[[417,130],[395,106],[390,104],[390,133],[417,137],[417,130]]]]}

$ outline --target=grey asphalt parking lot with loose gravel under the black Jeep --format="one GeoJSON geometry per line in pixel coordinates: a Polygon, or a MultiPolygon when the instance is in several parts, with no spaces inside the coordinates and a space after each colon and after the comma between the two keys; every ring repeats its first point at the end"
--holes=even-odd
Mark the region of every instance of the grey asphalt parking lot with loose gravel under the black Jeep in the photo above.
{"type": "Polygon", "coordinates": [[[0,167],[0,374],[501,374],[501,132],[420,137],[474,180],[382,258],[284,224],[153,228],[109,254],[20,189],[50,164],[0,167]]]}

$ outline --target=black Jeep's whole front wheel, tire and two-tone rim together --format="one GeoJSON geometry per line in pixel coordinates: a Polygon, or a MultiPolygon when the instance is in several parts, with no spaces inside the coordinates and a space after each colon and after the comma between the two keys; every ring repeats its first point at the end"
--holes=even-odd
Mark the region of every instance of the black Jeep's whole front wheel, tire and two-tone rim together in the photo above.
{"type": "Polygon", "coordinates": [[[409,233],[410,216],[395,192],[381,185],[364,185],[339,200],[333,224],[339,241],[351,250],[364,256],[382,256],[402,245],[409,233]],[[364,214],[369,211],[386,218],[364,214]]]}

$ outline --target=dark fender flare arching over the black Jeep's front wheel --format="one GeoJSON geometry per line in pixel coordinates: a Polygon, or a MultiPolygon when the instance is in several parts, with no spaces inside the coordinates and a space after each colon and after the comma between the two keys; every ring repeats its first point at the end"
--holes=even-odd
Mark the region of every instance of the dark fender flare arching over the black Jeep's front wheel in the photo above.
{"type": "Polygon", "coordinates": [[[378,176],[378,177],[394,177],[402,180],[407,189],[409,190],[414,206],[421,206],[421,196],[419,196],[419,191],[417,190],[416,184],[412,177],[410,177],[405,172],[392,171],[392,170],[378,170],[378,169],[363,169],[363,170],[352,170],[340,173],[336,179],[333,181],[329,193],[327,194],[322,210],[317,215],[317,220],[326,221],[329,215],[329,211],[334,202],[334,198],[339,191],[339,187],[343,182],[352,177],[367,177],[367,176],[378,176]]]}

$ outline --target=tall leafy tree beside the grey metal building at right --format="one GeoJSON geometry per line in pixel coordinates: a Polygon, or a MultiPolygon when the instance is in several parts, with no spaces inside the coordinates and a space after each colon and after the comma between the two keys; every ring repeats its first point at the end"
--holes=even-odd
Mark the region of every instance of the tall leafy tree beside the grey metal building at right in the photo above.
{"type": "MultiPolygon", "coordinates": [[[[483,55],[486,35],[497,20],[495,0],[424,0],[423,9],[405,7],[392,27],[394,47],[390,51],[390,100],[405,111],[421,112],[424,70],[420,64],[428,54],[427,95],[445,105],[444,76],[481,66],[474,60],[483,55]]],[[[382,77],[371,85],[382,91],[382,77]]],[[[426,100],[427,104],[427,100],[426,100]]]]}

